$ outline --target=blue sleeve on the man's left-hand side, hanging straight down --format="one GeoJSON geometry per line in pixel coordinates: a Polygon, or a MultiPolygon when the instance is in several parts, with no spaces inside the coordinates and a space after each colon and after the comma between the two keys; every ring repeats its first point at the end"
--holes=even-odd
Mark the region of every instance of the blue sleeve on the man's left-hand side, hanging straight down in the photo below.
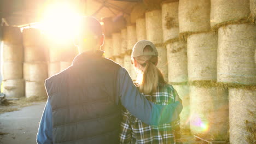
{"type": "Polygon", "coordinates": [[[44,112],[39,124],[37,133],[37,143],[53,143],[53,122],[52,122],[52,111],[49,99],[44,107],[44,112]]]}

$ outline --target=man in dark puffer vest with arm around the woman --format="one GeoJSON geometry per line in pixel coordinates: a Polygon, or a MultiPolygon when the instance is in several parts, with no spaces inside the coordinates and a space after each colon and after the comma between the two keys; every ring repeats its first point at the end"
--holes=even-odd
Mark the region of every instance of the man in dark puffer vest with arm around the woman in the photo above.
{"type": "Polygon", "coordinates": [[[182,104],[176,101],[164,106],[148,101],[124,68],[102,57],[103,41],[100,22],[83,17],[80,55],[71,67],[45,81],[48,101],[38,143],[118,143],[121,105],[147,124],[178,118],[182,104]]]}

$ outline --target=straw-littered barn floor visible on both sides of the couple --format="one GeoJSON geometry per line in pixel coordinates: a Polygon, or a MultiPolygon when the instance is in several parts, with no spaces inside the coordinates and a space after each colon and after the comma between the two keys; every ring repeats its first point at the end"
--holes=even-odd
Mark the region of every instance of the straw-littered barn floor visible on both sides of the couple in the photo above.
{"type": "MultiPolygon", "coordinates": [[[[46,99],[22,98],[11,101],[8,106],[0,106],[0,143],[36,143],[38,125],[46,99]]],[[[201,144],[194,141],[189,133],[182,136],[184,144],[201,144]]]]}

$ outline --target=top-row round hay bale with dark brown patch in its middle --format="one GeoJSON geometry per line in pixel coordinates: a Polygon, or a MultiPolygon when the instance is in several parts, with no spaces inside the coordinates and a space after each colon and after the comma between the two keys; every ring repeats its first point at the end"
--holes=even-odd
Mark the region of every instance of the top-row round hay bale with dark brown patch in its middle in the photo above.
{"type": "Polygon", "coordinates": [[[162,4],[162,35],[164,42],[179,37],[179,2],[162,4]]]}

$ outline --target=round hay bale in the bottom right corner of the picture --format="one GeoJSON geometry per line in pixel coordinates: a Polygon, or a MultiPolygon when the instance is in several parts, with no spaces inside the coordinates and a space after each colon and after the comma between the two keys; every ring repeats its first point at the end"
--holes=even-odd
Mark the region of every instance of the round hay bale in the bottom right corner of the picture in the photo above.
{"type": "Polygon", "coordinates": [[[255,89],[229,89],[230,143],[255,142],[255,96],[255,89]]]}

